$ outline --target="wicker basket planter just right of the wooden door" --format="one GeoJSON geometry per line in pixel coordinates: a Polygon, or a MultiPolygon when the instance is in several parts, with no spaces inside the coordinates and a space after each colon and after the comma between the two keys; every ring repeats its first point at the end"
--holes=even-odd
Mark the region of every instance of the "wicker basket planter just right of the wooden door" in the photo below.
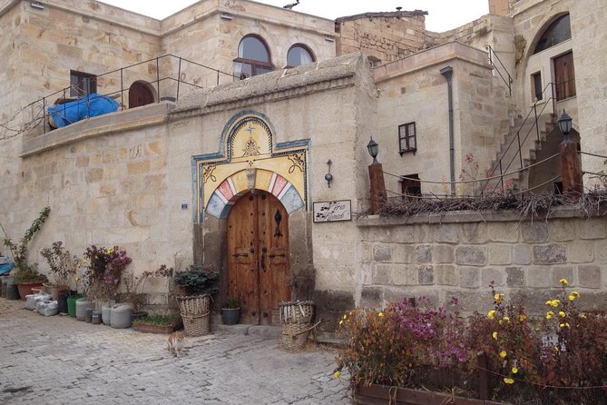
{"type": "Polygon", "coordinates": [[[280,302],[279,310],[282,324],[281,346],[288,351],[303,349],[311,331],[314,304],[312,301],[280,302]]]}

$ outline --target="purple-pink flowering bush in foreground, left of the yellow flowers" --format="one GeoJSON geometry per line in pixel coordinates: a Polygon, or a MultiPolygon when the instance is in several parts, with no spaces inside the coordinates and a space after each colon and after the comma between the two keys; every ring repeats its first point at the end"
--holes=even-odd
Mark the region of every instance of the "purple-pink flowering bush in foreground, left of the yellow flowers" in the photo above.
{"type": "MultiPolygon", "coordinates": [[[[432,368],[466,374],[465,322],[445,307],[424,308],[409,301],[391,303],[384,311],[354,310],[339,321],[338,333],[348,348],[338,357],[336,373],[346,367],[353,388],[359,384],[416,385],[432,368]]],[[[456,304],[456,300],[452,301],[456,304]]]]}

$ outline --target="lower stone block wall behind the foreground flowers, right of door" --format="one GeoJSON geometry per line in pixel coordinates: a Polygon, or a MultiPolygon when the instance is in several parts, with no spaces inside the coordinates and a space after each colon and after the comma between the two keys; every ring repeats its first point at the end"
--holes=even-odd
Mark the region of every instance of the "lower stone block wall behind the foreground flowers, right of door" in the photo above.
{"type": "Polygon", "coordinates": [[[493,303],[490,282],[535,313],[566,278],[585,309],[607,305],[607,219],[557,210],[534,221],[517,213],[450,212],[410,218],[369,218],[360,231],[359,305],[377,307],[403,297],[446,303],[463,311],[493,303]]]}

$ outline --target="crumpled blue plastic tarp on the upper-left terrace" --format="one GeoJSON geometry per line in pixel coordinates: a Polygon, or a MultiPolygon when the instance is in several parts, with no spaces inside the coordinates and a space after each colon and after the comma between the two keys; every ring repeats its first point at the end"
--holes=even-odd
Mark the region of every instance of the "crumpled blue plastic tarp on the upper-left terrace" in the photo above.
{"type": "Polygon", "coordinates": [[[78,100],[48,107],[49,123],[54,128],[63,128],[84,118],[113,113],[118,104],[112,97],[101,94],[87,94],[78,100]]]}

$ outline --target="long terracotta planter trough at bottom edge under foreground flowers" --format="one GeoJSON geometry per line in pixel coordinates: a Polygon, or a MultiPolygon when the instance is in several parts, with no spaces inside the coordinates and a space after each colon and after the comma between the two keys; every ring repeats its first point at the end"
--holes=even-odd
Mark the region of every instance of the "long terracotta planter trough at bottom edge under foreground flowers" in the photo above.
{"type": "Polygon", "coordinates": [[[358,386],[354,392],[357,403],[362,405],[504,405],[504,402],[492,400],[475,400],[471,398],[452,397],[445,392],[429,390],[410,390],[371,384],[369,387],[358,386]]]}

